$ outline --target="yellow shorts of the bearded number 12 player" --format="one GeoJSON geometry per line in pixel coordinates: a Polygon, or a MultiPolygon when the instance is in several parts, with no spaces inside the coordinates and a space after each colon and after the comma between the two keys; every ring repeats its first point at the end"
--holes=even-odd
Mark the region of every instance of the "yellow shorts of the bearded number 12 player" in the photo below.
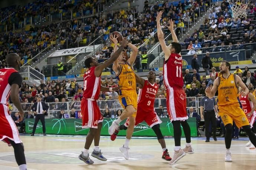
{"type": "Polygon", "coordinates": [[[239,103],[219,106],[218,109],[219,115],[221,116],[224,125],[227,125],[229,123],[233,125],[233,121],[236,123],[237,128],[250,125],[245,113],[240,108],[239,103]]]}

